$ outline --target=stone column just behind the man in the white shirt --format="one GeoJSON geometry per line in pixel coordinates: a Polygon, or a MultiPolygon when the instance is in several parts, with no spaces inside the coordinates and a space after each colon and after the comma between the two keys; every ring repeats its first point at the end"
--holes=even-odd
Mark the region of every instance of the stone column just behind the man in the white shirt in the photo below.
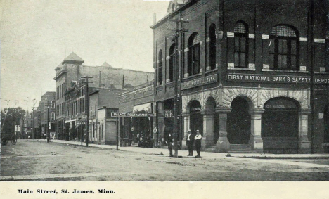
{"type": "Polygon", "coordinates": [[[203,136],[201,148],[214,146],[214,112],[202,111],[203,115],[203,136]]]}

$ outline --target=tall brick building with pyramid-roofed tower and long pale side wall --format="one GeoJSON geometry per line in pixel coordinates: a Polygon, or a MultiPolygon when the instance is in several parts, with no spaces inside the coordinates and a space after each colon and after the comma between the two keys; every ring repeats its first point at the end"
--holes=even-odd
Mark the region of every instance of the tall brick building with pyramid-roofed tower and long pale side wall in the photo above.
{"type": "MultiPolygon", "coordinates": [[[[56,131],[60,139],[79,139],[77,122],[84,118],[86,92],[81,77],[93,77],[89,84],[93,89],[122,90],[153,80],[153,72],[113,68],[108,63],[101,66],[82,65],[84,60],[71,53],[56,70],[56,131]]],[[[106,95],[105,95],[106,96],[106,95]]],[[[108,100],[102,98],[102,100],[108,100]]],[[[99,108],[99,107],[98,107],[99,108]]],[[[84,122],[85,124],[85,122],[84,122]]],[[[83,127],[83,124],[79,125],[83,127]]],[[[82,129],[80,129],[82,131],[82,129]]]]}

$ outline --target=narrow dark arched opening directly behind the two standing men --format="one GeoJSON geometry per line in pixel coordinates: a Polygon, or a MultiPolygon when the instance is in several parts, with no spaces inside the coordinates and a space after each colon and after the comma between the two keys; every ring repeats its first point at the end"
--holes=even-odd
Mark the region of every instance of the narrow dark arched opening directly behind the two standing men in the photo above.
{"type": "Polygon", "coordinates": [[[198,101],[191,101],[190,103],[190,129],[195,133],[200,131],[203,136],[203,117],[201,115],[201,105],[198,101]]]}

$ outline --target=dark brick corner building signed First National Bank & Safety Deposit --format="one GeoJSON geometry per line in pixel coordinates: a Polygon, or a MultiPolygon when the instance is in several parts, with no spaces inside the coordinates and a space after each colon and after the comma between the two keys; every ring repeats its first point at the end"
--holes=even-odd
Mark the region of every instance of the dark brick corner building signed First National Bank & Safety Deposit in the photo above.
{"type": "Polygon", "coordinates": [[[318,0],[171,1],[152,26],[156,127],[174,126],[177,67],[183,149],[199,129],[203,150],[329,153],[327,14],[318,0]],[[178,44],[172,19],[188,21],[178,44]]]}

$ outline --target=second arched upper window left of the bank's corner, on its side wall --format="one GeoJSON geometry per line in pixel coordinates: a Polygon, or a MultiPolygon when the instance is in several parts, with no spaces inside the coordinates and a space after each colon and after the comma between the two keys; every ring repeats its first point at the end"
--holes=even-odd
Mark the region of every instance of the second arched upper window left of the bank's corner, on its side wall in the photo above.
{"type": "Polygon", "coordinates": [[[188,75],[200,72],[200,37],[194,33],[188,39],[188,75]]]}

